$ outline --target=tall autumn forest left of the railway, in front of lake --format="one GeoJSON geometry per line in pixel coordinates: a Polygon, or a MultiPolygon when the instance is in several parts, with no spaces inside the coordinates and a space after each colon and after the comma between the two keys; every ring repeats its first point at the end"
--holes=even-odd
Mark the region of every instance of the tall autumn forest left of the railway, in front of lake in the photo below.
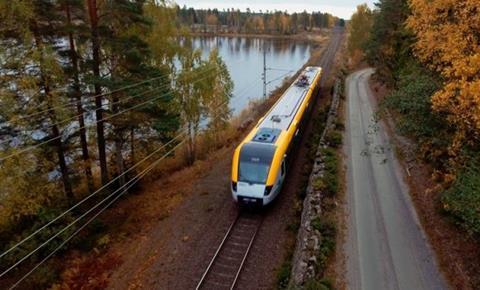
{"type": "MultiPolygon", "coordinates": [[[[63,241],[83,228],[78,218],[174,149],[192,164],[200,132],[214,144],[228,126],[233,82],[216,50],[202,59],[192,49],[189,29],[163,1],[1,0],[0,18],[5,278],[24,273],[15,267],[24,258],[33,265],[68,249],[63,241]]],[[[70,243],[88,244],[86,233],[70,243]]],[[[58,274],[43,269],[33,285],[58,274]]]]}

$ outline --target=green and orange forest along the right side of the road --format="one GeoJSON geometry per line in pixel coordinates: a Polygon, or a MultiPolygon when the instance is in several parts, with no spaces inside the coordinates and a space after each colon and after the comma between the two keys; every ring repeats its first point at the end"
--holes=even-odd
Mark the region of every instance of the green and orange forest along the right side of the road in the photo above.
{"type": "Polygon", "coordinates": [[[349,23],[352,59],[364,57],[390,93],[383,106],[413,138],[443,192],[441,208],[480,234],[480,7],[478,1],[380,0],[349,23]]]}

